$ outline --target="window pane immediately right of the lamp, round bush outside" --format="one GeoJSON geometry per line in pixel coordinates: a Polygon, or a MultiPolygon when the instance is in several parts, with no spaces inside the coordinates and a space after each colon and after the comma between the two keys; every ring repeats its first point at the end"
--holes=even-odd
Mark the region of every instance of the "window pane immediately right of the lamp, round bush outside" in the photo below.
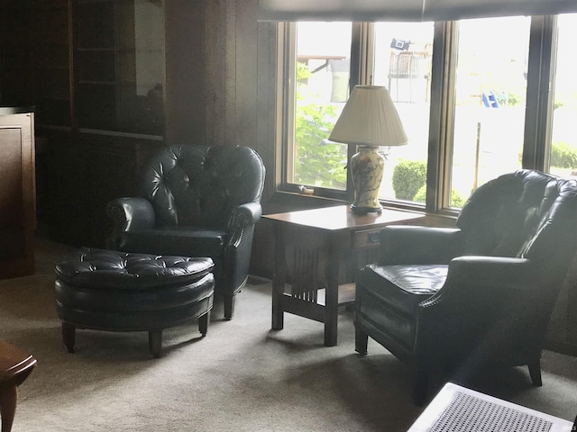
{"type": "Polygon", "coordinates": [[[383,200],[425,203],[434,23],[375,23],[372,81],[389,88],[408,145],[386,148],[383,200]]]}

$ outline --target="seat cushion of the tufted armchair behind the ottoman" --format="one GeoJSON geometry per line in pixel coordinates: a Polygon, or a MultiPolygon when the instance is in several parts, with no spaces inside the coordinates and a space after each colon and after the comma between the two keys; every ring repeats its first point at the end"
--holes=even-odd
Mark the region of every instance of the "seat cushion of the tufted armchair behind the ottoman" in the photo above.
{"type": "Polygon", "coordinates": [[[227,240],[221,229],[162,227],[126,231],[118,248],[163,255],[180,255],[186,250],[188,257],[220,257],[227,240]]]}

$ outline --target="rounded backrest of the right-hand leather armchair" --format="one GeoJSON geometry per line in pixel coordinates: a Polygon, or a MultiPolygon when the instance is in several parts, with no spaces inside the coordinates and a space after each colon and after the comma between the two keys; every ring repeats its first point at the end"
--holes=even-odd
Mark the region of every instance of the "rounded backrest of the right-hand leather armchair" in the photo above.
{"type": "Polygon", "coordinates": [[[457,226],[466,255],[558,258],[574,251],[577,184],[520,169],[482,184],[463,206],[457,226]]]}

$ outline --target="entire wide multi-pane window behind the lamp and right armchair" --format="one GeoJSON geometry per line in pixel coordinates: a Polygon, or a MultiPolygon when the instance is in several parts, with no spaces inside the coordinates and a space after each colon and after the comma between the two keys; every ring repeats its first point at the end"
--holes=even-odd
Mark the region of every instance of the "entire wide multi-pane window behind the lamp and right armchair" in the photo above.
{"type": "Polygon", "coordinates": [[[279,24],[289,40],[284,76],[292,78],[283,80],[283,185],[352,201],[346,164],[355,151],[328,136],[355,84],[388,87],[407,130],[407,146],[380,149],[387,160],[380,188],[386,205],[453,213],[491,178],[521,166],[547,171],[545,160],[554,173],[577,174],[571,120],[577,110],[576,17],[560,15],[558,25],[544,16],[279,24]],[[540,31],[551,38],[557,27],[557,45],[532,37],[540,31]],[[540,56],[552,48],[557,67],[550,114],[533,106],[542,98],[527,76],[547,74],[551,65],[540,56]],[[534,112],[536,121],[527,121],[534,112]],[[527,132],[535,122],[551,130],[552,143],[527,132]],[[550,157],[527,157],[545,148],[550,157]]]}

